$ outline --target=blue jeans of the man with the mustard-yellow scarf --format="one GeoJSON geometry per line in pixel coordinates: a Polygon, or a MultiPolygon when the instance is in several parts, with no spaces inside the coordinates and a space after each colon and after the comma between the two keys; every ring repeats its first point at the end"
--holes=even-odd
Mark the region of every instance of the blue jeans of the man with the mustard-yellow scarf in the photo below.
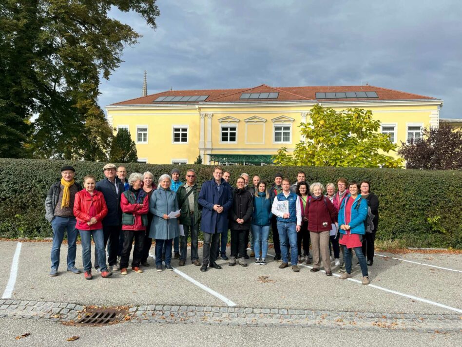
{"type": "Polygon", "coordinates": [[[73,268],[76,265],[76,241],[78,235],[78,231],[76,229],[76,218],[56,216],[51,221],[51,227],[53,229],[51,268],[56,270],[59,268],[59,252],[62,240],[64,239],[64,231],[67,231],[67,268],[73,268]]]}

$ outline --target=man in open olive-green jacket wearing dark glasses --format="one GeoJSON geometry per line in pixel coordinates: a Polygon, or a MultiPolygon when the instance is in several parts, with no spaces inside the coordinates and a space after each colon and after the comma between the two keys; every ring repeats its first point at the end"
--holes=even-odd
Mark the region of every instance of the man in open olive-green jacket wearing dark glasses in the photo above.
{"type": "MultiPolygon", "coordinates": [[[[183,183],[176,191],[178,199],[178,208],[181,210],[179,218],[180,224],[183,225],[184,236],[180,236],[180,262],[179,266],[185,266],[186,255],[188,251],[188,236],[191,233],[191,262],[200,266],[197,239],[199,235],[199,222],[201,210],[197,202],[200,187],[196,183],[196,172],[193,169],[186,173],[186,182],[183,183]]],[[[201,206],[202,207],[202,206],[201,206]]]]}

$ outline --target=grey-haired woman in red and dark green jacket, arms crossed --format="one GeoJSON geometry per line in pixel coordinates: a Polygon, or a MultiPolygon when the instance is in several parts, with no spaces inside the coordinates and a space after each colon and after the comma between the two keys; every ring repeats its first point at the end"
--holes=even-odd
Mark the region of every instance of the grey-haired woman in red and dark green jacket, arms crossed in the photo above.
{"type": "Polygon", "coordinates": [[[133,250],[132,270],[137,273],[143,272],[139,268],[141,262],[141,251],[143,250],[144,235],[148,226],[148,194],[141,189],[143,175],[133,173],[128,178],[130,188],[122,193],[120,208],[122,210],[122,232],[124,232],[122,254],[120,257],[120,273],[128,273],[128,261],[132,243],[135,238],[133,250]]]}

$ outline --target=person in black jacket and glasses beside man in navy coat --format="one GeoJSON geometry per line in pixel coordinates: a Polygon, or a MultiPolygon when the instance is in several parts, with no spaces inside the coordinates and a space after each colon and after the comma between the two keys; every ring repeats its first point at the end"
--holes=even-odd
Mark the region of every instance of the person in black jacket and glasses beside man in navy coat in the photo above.
{"type": "Polygon", "coordinates": [[[239,265],[247,266],[244,254],[246,252],[246,240],[249,237],[250,217],[253,212],[252,195],[245,189],[244,177],[237,179],[237,189],[233,192],[232,207],[229,212],[229,226],[231,229],[231,260],[230,266],[236,265],[239,257],[239,265]]]}

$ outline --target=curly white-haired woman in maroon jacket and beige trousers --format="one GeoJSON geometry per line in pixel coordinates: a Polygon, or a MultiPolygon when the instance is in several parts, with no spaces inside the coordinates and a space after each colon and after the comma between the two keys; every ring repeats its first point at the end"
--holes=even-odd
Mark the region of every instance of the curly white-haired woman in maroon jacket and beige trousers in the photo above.
{"type": "Polygon", "coordinates": [[[329,234],[332,223],[337,224],[337,209],[330,200],[323,196],[324,186],[315,182],[309,186],[311,196],[308,197],[305,207],[305,217],[308,218],[309,238],[313,252],[313,269],[319,271],[321,266],[320,255],[323,258],[324,270],[327,276],[332,276],[329,256],[329,234]]]}

